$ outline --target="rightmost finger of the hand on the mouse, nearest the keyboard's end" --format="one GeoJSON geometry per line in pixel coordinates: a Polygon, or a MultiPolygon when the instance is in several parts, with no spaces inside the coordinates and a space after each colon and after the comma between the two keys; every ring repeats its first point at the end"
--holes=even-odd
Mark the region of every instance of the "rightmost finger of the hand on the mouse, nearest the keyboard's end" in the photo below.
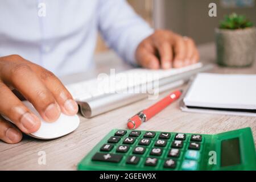
{"type": "Polygon", "coordinates": [[[61,81],[46,69],[42,69],[39,73],[41,80],[55,97],[61,111],[67,115],[75,115],[79,107],[61,81]]]}

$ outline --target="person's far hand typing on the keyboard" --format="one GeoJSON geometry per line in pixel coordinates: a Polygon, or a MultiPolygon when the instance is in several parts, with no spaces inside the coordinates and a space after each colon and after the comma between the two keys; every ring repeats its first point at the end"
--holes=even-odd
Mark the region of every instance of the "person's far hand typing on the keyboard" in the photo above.
{"type": "Polygon", "coordinates": [[[150,69],[181,68],[197,63],[199,52],[191,38],[157,30],[136,49],[137,62],[150,69]]]}

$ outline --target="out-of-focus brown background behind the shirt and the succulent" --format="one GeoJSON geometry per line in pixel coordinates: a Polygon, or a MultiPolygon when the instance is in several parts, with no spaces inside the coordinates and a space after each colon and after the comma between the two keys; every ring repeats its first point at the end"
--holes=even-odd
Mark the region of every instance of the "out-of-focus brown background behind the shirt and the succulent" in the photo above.
{"type": "MultiPolygon", "coordinates": [[[[127,0],[152,27],[166,28],[190,36],[197,44],[214,41],[214,28],[224,15],[246,15],[256,24],[255,0],[127,0]],[[208,15],[209,3],[216,3],[217,17],[208,15]]],[[[98,36],[96,53],[108,50],[98,36]]]]}

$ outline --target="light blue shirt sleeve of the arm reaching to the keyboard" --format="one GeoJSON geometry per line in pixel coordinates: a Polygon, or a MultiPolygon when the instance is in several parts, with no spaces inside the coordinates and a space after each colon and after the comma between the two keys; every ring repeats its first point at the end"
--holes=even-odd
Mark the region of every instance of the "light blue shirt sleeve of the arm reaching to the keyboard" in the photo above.
{"type": "Polygon", "coordinates": [[[110,48],[131,64],[135,51],[154,30],[125,0],[100,0],[97,11],[98,30],[110,48]]]}

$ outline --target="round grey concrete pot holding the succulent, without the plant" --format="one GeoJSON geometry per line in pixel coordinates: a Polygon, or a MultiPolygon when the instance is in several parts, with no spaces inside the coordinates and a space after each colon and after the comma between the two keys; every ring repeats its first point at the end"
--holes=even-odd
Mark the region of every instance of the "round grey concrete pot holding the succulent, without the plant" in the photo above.
{"type": "Polygon", "coordinates": [[[248,67],[254,63],[256,28],[216,29],[217,63],[228,67],[248,67]]]}

